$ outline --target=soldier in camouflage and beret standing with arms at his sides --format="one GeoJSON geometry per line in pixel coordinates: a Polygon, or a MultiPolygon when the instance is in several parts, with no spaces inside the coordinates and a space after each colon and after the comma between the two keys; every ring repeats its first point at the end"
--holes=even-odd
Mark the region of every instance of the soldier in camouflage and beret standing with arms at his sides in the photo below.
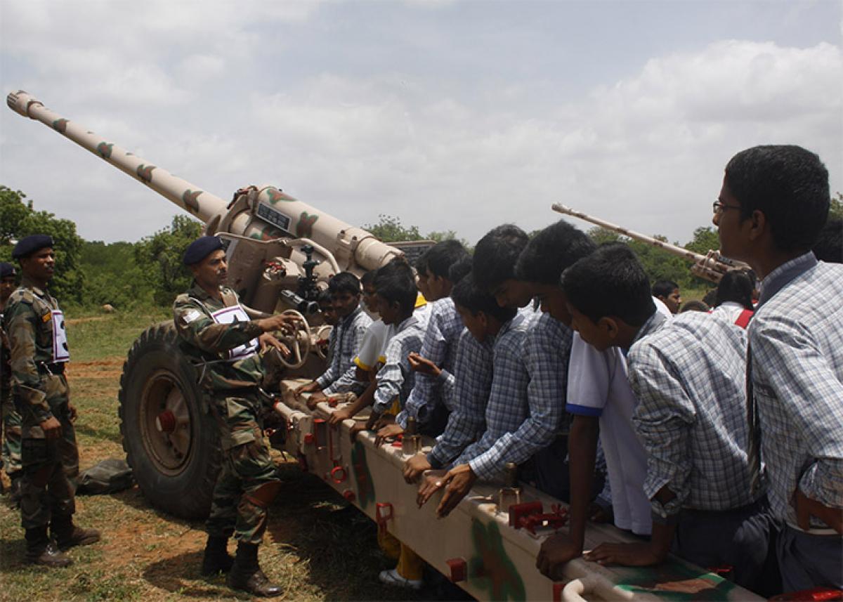
{"type": "Polygon", "coordinates": [[[64,316],[46,292],[53,276],[53,241],[45,234],[21,239],[12,251],[23,279],[3,312],[12,368],[13,399],[21,417],[20,513],[26,560],[67,567],[62,550],[99,541],[99,532],[73,524],[76,510],[67,473],[78,472],[78,449],[64,366],[70,353],[64,316]],[[47,527],[52,537],[47,535],[47,527]]]}

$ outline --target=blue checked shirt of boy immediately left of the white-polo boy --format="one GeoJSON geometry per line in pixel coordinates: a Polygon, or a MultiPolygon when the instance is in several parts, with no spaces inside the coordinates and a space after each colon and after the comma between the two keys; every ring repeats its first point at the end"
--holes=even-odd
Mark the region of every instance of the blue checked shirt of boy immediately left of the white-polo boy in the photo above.
{"type": "MultiPolygon", "coordinates": [[[[491,448],[470,460],[475,475],[492,479],[507,462],[522,464],[553,442],[565,416],[572,336],[573,331],[550,314],[538,313],[529,321],[523,347],[529,379],[527,415],[515,428],[499,431],[491,448]]],[[[510,417],[520,412],[510,412],[510,417]]]]}

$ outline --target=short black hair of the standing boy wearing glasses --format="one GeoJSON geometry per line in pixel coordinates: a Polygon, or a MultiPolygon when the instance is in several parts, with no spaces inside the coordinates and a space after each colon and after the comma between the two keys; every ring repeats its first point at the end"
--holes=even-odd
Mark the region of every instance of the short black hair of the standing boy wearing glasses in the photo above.
{"type": "Polygon", "coordinates": [[[724,183],[740,204],[741,220],[764,213],[776,250],[811,249],[828,218],[828,169],[802,147],[747,148],[726,165],[724,183]]]}

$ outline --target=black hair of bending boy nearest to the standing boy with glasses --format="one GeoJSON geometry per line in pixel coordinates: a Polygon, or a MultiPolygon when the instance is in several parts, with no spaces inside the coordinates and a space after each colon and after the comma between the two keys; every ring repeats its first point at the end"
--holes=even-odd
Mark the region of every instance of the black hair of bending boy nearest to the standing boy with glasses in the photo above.
{"type": "Polygon", "coordinates": [[[623,243],[599,246],[564,271],[561,282],[568,303],[593,322],[616,316],[641,326],[656,311],[647,273],[623,243]]]}

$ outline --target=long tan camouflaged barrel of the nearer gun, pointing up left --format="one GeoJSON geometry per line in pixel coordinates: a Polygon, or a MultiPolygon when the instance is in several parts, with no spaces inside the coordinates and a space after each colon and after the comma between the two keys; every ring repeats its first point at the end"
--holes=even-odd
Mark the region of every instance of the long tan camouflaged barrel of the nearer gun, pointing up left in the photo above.
{"type": "MultiPolygon", "coordinates": [[[[229,204],[47,109],[40,100],[23,90],[8,94],[6,103],[19,115],[50,126],[201,219],[207,225],[208,234],[227,232],[260,240],[308,239],[315,243],[318,256],[322,255],[324,259],[330,254],[340,270],[358,273],[403,255],[362,228],[319,212],[274,186],[244,188],[239,191],[243,194],[237,195],[237,202],[229,204]]],[[[295,250],[293,255],[298,258],[300,253],[295,250]]]]}

